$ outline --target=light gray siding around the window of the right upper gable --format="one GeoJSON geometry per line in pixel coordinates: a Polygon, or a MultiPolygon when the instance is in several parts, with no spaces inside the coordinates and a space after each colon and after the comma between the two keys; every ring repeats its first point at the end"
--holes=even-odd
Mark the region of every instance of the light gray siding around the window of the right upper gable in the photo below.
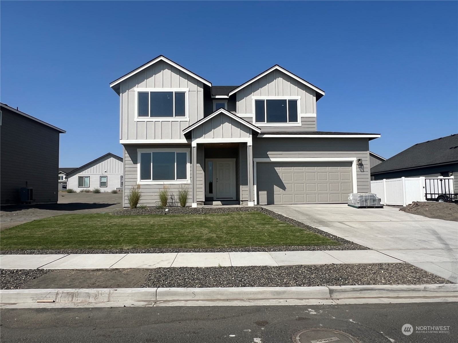
{"type": "MultiPolygon", "coordinates": [[[[237,115],[245,120],[250,118],[250,122],[253,121],[252,96],[300,96],[299,112],[302,114],[316,113],[315,91],[279,70],[273,70],[236,93],[237,115]]],[[[316,131],[316,117],[302,118],[300,127],[273,126],[271,128],[263,128],[263,130],[272,131],[273,128],[278,128],[282,131],[316,131]]]]}

